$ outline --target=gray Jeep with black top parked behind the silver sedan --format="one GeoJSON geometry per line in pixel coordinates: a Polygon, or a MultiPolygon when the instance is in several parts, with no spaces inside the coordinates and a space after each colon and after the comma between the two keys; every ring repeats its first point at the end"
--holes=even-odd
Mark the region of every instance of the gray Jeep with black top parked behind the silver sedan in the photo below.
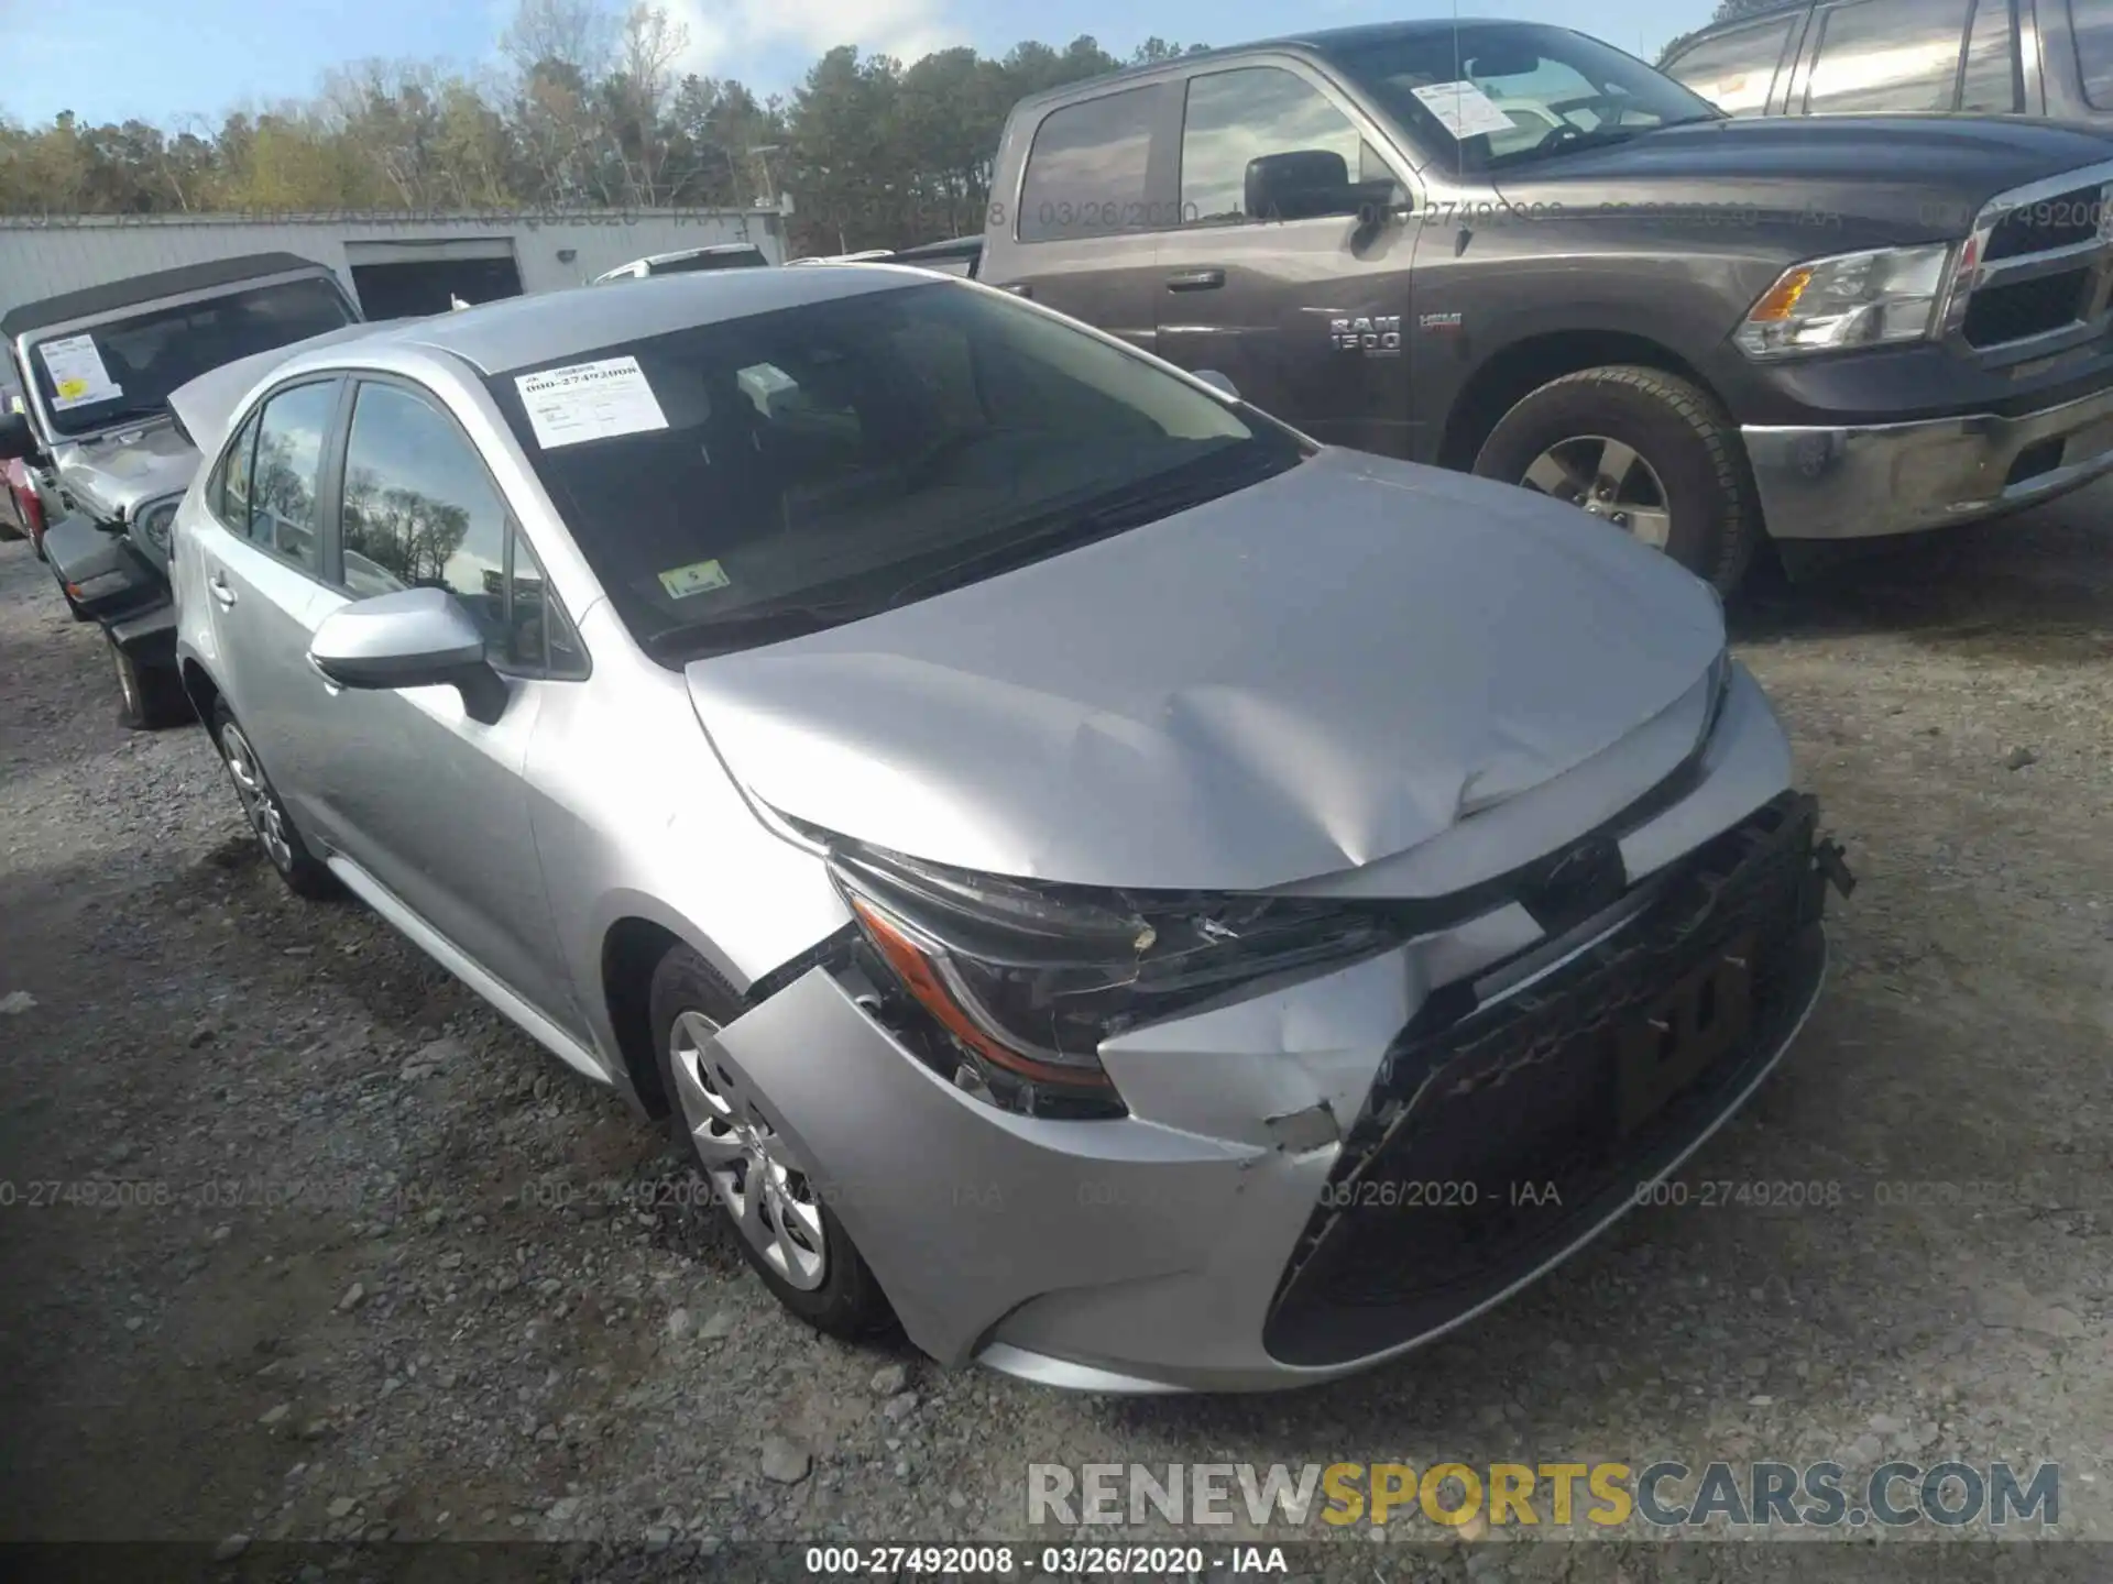
{"type": "Polygon", "coordinates": [[[169,393],[256,353],[359,323],[325,266],[294,253],[184,264],[25,302],[0,319],[25,395],[0,414],[51,528],[44,558],[110,642],[129,727],[188,716],[175,676],[169,524],[199,471],[169,393]]]}

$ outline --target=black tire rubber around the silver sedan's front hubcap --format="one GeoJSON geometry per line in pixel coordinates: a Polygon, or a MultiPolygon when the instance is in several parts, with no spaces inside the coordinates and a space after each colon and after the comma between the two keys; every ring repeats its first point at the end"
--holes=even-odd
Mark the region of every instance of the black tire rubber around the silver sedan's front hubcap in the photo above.
{"type": "MultiPolygon", "coordinates": [[[[647,993],[653,1058],[659,1062],[661,1092],[668,1096],[670,1132],[682,1147],[682,1153],[697,1166],[699,1174],[710,1181],[704,1157],[697,1153],[697,1140],[691,1136],[682,1115],[682,1096],[676,1088],[674,1071],[676,1020],[689,1012],[704,1014],[716,1026],[725,1026],[742,1016],[742,1001],[697,953],[689,946],[670,946],[668,955],[653,969],[653,984],[647,993]]],[[[769,1117],[769,1100],[763,1100],[759,1109],[775,1130],[778,1119],[769,1117]]],[[[852,1236],[843,1229],[843,1223],[837,1221],[835,1210],[828,1204],[818,1204],[816,1208],[822,1214],[824,1227],[824,1267],[822,1282],[814,1288],[799,1288],[771,1269],[763,1252],[740,1231],[731,1208],[721,1204],[718,1193],[712,1195],[710,1214],[727,1217],[742,1257],[763,1278],[771,1295],[809,1326],[845,1341],[887,1335],[896,1328],[887,1295],[881,1293],[881,1284],[873,1278],[864,1255],[852,1244],[852,1236]]]]}

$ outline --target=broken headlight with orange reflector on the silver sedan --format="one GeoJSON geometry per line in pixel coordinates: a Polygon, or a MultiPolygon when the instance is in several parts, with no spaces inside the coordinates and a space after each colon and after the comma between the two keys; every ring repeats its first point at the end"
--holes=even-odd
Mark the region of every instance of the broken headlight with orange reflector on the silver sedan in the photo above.
{"type": "Polygon", "coordinates": [[[879,978],[942,1033],[936,1064],[1033,1113],[1120,1111],[1103,1039],[1414,929],[1399,904],[1031,885],[854,843],[828,868],[879,978]]]}

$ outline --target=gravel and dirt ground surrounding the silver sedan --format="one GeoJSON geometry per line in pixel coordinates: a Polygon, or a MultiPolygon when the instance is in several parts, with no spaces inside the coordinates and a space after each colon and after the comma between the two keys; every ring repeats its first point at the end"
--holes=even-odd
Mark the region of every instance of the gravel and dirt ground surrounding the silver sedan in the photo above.
{"type": "MultiPolygon", "coordinates": [[[[1900,1455],[2060,1462],[2058,1533],[2113,1540],[2113,496],[1737,625],[1862,885],[1690,1204],[1369,1377],[1101,1400],[782,1318],[659,1132],[289,898],[203,731],[120,731],[97,629],[0,545],[0,1538],[699,1557],[1023,1540],[1029,1462],[1900,1455]]],[[[1536,1533],[1445,1554],[1564,1576],[1492,1544],[1536,1533]]]]}

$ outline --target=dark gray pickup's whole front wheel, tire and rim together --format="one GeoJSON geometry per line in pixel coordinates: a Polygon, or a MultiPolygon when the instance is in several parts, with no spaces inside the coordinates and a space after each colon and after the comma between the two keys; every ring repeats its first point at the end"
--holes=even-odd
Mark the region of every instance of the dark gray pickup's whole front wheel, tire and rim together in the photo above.
{"type": "Polygon", "coordinates": [[[1507,412],[1475,471],[1627,528],[1731,593],[1760,539],[1760,507],[1731,416],[1678,374],[1589,367],[1507,412]]]}

